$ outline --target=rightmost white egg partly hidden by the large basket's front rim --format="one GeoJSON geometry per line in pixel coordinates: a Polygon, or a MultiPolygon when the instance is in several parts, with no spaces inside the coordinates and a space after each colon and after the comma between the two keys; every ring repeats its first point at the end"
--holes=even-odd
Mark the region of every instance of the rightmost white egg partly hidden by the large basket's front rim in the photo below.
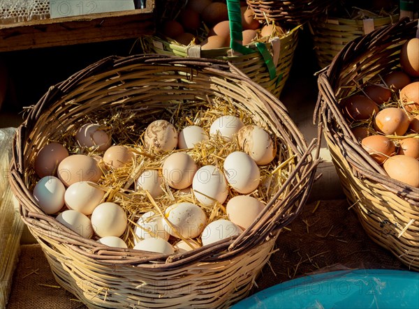
{"type": "Polygon", "coordinates": [[[203,246],[207,246],[210,243],[237,236],[242,232],[240,227],[229,220],[215,220],[205,227],[201,236],[201,241],[203,242],[203,246]]]}

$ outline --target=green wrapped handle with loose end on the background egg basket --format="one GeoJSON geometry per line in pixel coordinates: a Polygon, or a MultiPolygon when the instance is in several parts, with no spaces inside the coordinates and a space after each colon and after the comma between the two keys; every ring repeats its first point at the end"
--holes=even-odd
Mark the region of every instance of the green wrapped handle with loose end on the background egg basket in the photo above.
{"type": "MultiPolygon", "coordinates": [[[[243,46],[243,27],[242,27],[242,11],[240,9],[240,0],[227,0],[227,9],[228,9],[228,21],[230,26],[230,48],[241,54],[251,54],[254,52],[249,47],[243,46]]],[[[256,43],[256,48],[258,52],[263,57],[267,70],[270,75],[270,79],[273,80],[277,75],[276,66],[274,64],[274,59],[269,50],[263,43],[256,43]]]]}

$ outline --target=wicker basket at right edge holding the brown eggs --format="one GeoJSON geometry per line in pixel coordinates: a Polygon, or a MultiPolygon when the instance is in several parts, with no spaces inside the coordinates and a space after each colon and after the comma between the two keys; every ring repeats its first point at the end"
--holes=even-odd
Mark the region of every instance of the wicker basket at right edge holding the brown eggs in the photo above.
{"type": "Polygon", "coordinates": [[[324,128],[344,193],[369,236],[419,271],[419,189],[387,176],[355,140],[338,106],[357,84],[399,68],[402,44],[417,30],[417,20],[402,19],[346,45],[318,77],[314,117],[324,128]]]}

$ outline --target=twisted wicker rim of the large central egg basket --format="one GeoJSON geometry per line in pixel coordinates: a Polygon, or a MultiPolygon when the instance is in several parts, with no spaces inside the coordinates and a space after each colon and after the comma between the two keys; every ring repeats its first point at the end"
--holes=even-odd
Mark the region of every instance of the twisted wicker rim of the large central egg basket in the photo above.
{"type": "Polygon", "coordinates": [[[138,266],[144,268],[172,269],[197,261],[217,262],[241,255],[260,245],[260,243],[264,243],[266,239],[269,239],[270,234],[277,233],[281,227],[290,223],[304,205],[311,183],[315,179],[316,166],[319,163],[320,145],[317,139],[307,145],[284,105],[269,91],[252,82],[249,77],[235,68],[232,63],[216,59],[184,59],[161,54],[142,54],[128,57],[107,57],[93,63],[84,70],[80,70],[64,82],[50,87],[43,98],[30,111],[22,126],[18,128],[13,149],[10,185],[20,201],[22,219],[31,229],[36,230],[37,234],[45,235],[50,239],[55,239],[55,241],[63,241],[65,232],[64,242],[68,243],[75,252],[103,263],[138,264],[138,266]],[[260,229],[248,230],[235,239],[225,239],[219,241],[219,243],[214,243],[189,253],[168,256],[147,254],[133,249],[104,248],[96,241],[83,239],[75,232],[58,223],[51,216],[47,216],[40,211],[27,188],[28,179],[26,174],[28,168],[26,156],[28,156],[28,153],[31,153],[31,144],[34,143],[34,140],[31,139],[31,131],[35,130],[38,121],[42,119],[45,112],[55,107],[62,108],[72,91],[79,89],[81,82],[94,83],[95,81],[100,81],[103,76],[115,73],[122,68],[126,67],[131,70],[132,68],[141,68],[142,66],[144,68],[161,69],[164,72],[180,70],[181,72],[217,75],[223,77],[226,81],[232,80],[236,83],[242,83],[249,89],[247,91],[257,93],[258,98],[265,102],[265,106],[260,108],[267,113],[266,116],[272,118],[275,115],[279,117],[277,119],[272,118],[272,121],[276,123],[275,126],[277,126],[275,130],[284,135],[284,140],[289,141],[287,144],[297,154],[298,162],[295,170],[284,183],[284,189],[289,188],[289,192],[286,195],[288,197],[282,201],[277,201],[276,198],[270,201],[265,208],[265,213],[267,213],[267,208],[273,205],[270,215],[261,216],[260,221],[255,223],[260,229]],[[191,68],[193,71],[191,71],[191,68]],[[315,155],[312,154],[314,149],[317,149],[315,155]],[[295,179],[297,175],[298,180],[295,179]],[[291,209],[294,204],[295,209],[286,215],[287,209],[291,209]],[[156,260],[160,262],[152,262],[156,260]]]}

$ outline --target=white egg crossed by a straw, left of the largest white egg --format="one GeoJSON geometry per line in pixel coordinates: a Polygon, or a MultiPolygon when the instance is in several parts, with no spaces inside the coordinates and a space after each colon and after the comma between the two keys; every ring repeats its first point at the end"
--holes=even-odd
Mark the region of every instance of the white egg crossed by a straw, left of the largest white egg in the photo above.
{"type": "Polygon", "coordinates": [[[204,206],[210,206],[216,201],[223,204],[228,195],[228,184],[218,167],[205,165],[193,176],[192,190],[198,202],[204,206]]]}

